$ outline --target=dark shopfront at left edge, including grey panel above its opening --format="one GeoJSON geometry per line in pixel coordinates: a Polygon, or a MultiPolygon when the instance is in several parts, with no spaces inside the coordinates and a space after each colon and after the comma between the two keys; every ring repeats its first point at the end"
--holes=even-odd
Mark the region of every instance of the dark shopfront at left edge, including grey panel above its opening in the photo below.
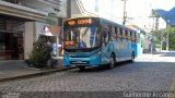
{"type": "Polygon", "coordinates": [[[24,57],[24,22],[0,19],[0,60],[22,60],[24,57]]]}

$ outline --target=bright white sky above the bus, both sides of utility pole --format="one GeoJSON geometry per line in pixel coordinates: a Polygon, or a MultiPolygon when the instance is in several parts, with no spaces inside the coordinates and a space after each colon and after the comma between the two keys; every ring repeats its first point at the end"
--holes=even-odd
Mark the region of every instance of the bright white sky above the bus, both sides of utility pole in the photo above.
{"type": "MultiPolygon", "coordinates": [[[[122,23],[124,1],[121,0],[81,0],[84,9],[97,13],[101,17],[122,23]],[[96,9],[97,8],[97,9],[96,9]]],[[[171,10],[175,7],[175,0],[127,0],[127,24],[136,24],[140,27],[151,28],[153,21],[152,9],[171,10]]]]}

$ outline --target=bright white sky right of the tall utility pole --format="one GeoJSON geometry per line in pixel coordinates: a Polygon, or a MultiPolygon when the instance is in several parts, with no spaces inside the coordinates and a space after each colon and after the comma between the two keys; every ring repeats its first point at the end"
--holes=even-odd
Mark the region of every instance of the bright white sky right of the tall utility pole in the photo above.
{"type": "MultiPolygon", "coordinates": [[[[153,21],[151,17],[151,9],[163,9],[170,11],[175,7],[175,0],[127,0],[128,22],[140,25],[141,27],[151,28],[153,21]]],[[[160,25],[164,27],[165,24],[160,25]]]]}

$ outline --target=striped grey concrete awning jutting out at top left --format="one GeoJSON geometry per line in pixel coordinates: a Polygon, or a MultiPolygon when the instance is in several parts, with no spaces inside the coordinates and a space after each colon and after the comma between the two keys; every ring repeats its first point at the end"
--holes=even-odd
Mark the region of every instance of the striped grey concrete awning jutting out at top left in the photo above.
{"type": "Polygon", "coordinates": [[[26,19],[30,21],[43,21],[48,13],[20,4],[0,1],[0,14],[26,19]]]}

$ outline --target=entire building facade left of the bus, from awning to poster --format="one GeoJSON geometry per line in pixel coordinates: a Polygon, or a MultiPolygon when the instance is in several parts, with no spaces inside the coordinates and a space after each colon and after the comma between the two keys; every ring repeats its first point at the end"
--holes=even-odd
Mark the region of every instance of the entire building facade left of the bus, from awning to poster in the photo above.
{"type": "Polygon", "coordinates": [[[61,3],[60,0],[0,0],[0,60],[27,59],[40,35],[58,37],[66,17],[59,16],[61,3]],[[51,35],[45,34],[46,27],[51,35]]]}

